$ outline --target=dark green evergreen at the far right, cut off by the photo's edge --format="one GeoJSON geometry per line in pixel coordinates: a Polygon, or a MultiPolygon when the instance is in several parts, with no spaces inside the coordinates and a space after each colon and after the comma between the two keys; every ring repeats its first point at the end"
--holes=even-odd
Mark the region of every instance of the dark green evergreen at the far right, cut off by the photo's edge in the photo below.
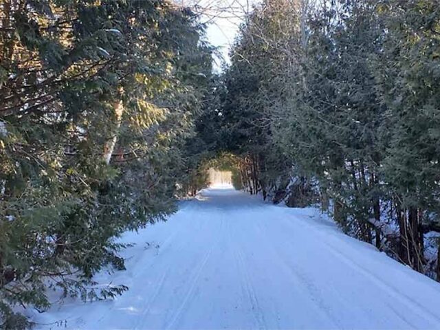
{"type": "Polygon", "coordinates": [[[437,230],[440,208],[439,3],[393,1],[378,8],[389,31],[375,70],[390,129],[384,180],[399,221],[400,259],[423,271],[432,259],[423,254],[423,233],[437,230]]]}

